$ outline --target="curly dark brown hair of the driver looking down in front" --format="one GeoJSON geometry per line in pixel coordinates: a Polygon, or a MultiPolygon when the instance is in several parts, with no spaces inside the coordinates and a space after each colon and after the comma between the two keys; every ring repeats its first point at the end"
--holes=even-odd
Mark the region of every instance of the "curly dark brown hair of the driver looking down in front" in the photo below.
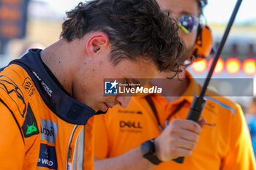
{"type": "Polygon", "coordinates": [[[94,0],[67,12],[61,37],[68,42],[91,31],[108,35],[111,61],[146,58],[159,71],[177,70],[184,63],[184,45],[176,21],[159,9],[155,0],[94,0]]]}

